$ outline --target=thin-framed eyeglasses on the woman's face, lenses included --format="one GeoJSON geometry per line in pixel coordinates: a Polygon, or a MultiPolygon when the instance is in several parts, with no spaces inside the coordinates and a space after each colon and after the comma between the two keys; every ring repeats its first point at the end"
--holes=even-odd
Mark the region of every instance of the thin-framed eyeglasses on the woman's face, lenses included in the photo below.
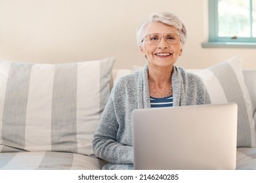
{"type": "Polygon", "coordinates": [[[152,33],[146,35],[142,42],[146,39],[148,44],[158,44],[162,37],[168,44],[177,44],[180,41],[180,35],[177,33],[168,33],[163,36],[160,33],[152,33]]]}

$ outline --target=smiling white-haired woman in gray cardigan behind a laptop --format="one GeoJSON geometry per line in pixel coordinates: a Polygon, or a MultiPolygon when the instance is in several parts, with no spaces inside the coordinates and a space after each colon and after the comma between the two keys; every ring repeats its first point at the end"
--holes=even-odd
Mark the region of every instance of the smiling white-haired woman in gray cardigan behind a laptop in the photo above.
{"type": "Polygon", "coordinates": [[[186,28],[171,12],[152,14],[137,29],[147,63],[110,93],[93,139],[95,155],[108,161],[103,169],[133,169],[133,110],[210,103],[202,80],[175,66],[185,42],[186,28]]]}

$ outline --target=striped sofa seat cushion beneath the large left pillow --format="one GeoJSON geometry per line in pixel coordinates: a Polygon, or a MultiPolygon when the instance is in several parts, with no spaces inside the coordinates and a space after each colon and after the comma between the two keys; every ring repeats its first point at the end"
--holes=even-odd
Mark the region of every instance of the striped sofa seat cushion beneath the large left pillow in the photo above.
{"type": "Polygon", "coordinates": [[[105,161],[70,152],[5,152],[0,170],[100,170],[105,161]]]}

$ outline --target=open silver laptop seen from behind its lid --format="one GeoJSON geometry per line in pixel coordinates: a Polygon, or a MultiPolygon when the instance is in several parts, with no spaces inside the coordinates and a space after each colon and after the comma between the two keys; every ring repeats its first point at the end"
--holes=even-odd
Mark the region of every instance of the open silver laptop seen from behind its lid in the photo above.
{"type": "Polygon", "coordinates": [[[236,103],[133,111],[135,169],[236,169],[236,103]]]}

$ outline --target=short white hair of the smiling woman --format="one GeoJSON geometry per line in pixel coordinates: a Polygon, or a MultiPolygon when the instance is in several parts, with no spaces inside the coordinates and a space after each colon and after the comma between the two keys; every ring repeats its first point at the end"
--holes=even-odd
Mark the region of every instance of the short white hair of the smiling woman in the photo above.
{"type": "Polygon", "coordinates": [[[179,31],[180,37],[181,37],[181,43],[182,46],[186,42],[186,27],[183,24],[183,22],[179,19],[178,16],[171,12],[161,12],[161,13],[154,13],[151,14],[148,19],[142,24],[137,29],[137,44],[138,46],[142,46],[143,44],[143,39],[144,39],[144,31],[148,24],[151,22],[161,22],[165,25],[173,26],[175,29],[179,31]]]}

